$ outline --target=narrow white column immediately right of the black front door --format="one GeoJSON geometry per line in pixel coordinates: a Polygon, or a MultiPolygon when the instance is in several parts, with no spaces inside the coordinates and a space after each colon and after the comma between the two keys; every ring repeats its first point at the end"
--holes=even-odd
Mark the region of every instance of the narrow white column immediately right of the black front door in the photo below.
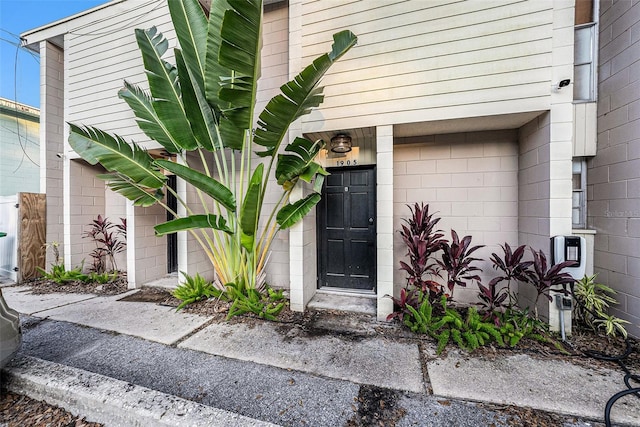
{"type": "Polygon", "coordinates": [[[376,128],[378,320],[393,312],[393,126],[376,128]]]}

